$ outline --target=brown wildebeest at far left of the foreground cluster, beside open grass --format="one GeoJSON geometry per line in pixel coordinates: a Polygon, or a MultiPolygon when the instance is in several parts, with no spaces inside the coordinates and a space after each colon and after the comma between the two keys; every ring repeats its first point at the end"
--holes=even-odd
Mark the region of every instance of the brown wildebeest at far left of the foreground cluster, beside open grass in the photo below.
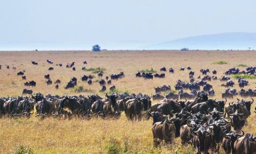
{"type": "Polygon", "coordinates": [[[161,141],[173,143],[175,137],[179,137],[180,119],[169,116],[162,122],[156,122],[152,126],[154,145],[157,146],[161,141]]]}

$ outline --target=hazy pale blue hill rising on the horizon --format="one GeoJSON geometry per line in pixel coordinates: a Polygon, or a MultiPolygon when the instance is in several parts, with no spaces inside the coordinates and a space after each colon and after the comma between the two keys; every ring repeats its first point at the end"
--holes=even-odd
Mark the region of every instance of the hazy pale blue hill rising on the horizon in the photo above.
{"type": "Polygon", "coordinates": [[[256,49],[256,33],[221,33],[193,36],[144,46],[144,49],[256,49]]]}

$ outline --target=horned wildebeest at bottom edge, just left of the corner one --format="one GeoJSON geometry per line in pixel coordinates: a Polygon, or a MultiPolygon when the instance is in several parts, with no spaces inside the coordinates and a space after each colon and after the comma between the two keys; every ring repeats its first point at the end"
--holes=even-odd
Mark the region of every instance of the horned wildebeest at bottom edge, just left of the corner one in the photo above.
{"type": "MultiPolygon", "coordinates": [[[[231,151],[234,151],[234,143],[235,141],[242,137],[244,135],[244,132],[242,131],[242,134],[237,134],[233,131],[230,131],[227,134],[224,134],[224,139],[222,140],[222,147],[226,154],[232,153],[231,151]]],[[[235,152],[235,151],[234,151],[235,152]]]]}

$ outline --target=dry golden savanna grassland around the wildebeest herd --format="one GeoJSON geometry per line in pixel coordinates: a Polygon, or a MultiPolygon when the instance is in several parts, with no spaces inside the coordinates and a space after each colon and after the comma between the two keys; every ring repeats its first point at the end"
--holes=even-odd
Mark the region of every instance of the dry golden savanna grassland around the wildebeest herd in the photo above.
{"type": "MultiPolygon", "coordinates": [[[[98,76],[91,71],[84,71],[81,68],[104,68],[105,75],[123,71],[125,78],[112,81],[112,85],[118,89],[117,92],[129,92],[151,95],[154,87],[161,85],[174,85],[178,79],[189,82],[189,70],[179,71],[180,67],[191,66],[195,76],[201,75],[201,68],[209,68],[210,71],[217,70],[218,78],[223,72],[231,67],[238,67],[241,70],[245,66],[256,66],[256,54],[253,51],[106,51],[106,52],[0,52],[0,96],[18,96],[25,88],[26,81],[34,80],[36,87],[29,87],[34,93],[58,94],[58,95],[88,95],[105,93],[99,92],[100,85],[97,82],[98,76]],[[46,60],[51,60],[50,65],[46,60]],[[31,61],[38,62],[32,65],[31,61]],[[84,65],[83,61],[88,64],[84,65]],[[75,63],[76,71],[66,68],[67,63],[75,63]],[[55,64],[62,63],[63,66],[55,64]],[[6,69],[6,65],[10,69],[6,69]],[[16,67],[16,70],[12,69],[16,67]],[[54,70],[48,70],[54,67],[54,70]],[[166,78],[144,80],[135,78],[135,72],[153,68],[160,72],[161,67],[174,68],[174,73],[166,72],[166,78]],[[17,72],[25,70],[27,80],[17,76],[17,72]],[[53,85],[46,85],[44,74],[49,73],[53,82],[61,81],[59,89],[53,85]],[[82,75],[95,75],[94,83],[89,86],[81,81],[82,75]],[[64,89],[66,83],[75,76],[78,79],[78,86],[83,86],[81,92],[74,89],[64,89]]],[[[211,73],[212,74],[212,73],[211,73]]],[[[234,88],[240,90],[237,79],[234,88]]],[[[249,81],[248,88],[256,88],[255,79],[249,81]]],[[[221,99],[221,81],[209,82],[213,85],[215,96],[221,99]]],[[[108,90],[109,86],[107,86],[108,90]]],[[[240,96],[238,96],[239,98],[240,96]]],[[[234,97],[234,100],[236,97],[234,97]]],[[[247,98],[249,99],[249,98],[247,98]]],[[[228,99],[231,102],[232,99],[228,99]]],[[[153,101],[156,102],[156,101],[153,101]]],[[[252,109],[255,107],[255,102],[252,109]]],[[[254,113],[248,118],[248,124],[244,132],[256,134],[256,116],[254,113]]],[[[118,151],[119,153],[195,153],[193,147],[182,147],[180,139],[176,139],[172,146],[162,145],[155,148],[152,139],[152,119],[142,121],[128,121],[122,114],[120,119],[98,119],[82,120],[73,118],[71,120],[58,120],[45,118],[40,120],[37,117],[26,118],[0,118],[0,153],[13,153],[21,146],[30,149],[34,153],[108,153],[118,151]]],[[[223,153],[223,151],[221,151],[223,153]]]]}

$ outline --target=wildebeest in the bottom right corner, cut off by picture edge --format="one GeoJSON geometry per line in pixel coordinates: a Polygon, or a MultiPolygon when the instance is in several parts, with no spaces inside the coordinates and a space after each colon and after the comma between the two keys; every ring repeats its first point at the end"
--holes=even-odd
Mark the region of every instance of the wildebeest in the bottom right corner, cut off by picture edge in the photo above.
{"type": "Polygon", "coordinates": [[[256,136],[246,133],[244,137],[238,138],[234,143],[234,153],[255,154],[256,136]]]}

